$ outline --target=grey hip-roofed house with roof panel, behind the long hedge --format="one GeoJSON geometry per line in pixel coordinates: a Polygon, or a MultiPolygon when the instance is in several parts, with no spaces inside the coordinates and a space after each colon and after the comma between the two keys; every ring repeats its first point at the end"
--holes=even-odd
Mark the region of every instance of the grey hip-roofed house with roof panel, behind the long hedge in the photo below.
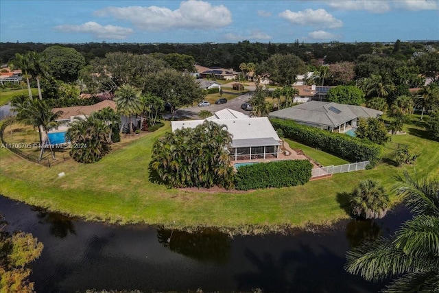
{"type": "Polygon", "coordinates": [[[362,106],[311,101],[270,113],[270,118],[294,120],[298,124],[338,132],[357,127],[359,118],[377,118],[383,112],[362,106]]]}

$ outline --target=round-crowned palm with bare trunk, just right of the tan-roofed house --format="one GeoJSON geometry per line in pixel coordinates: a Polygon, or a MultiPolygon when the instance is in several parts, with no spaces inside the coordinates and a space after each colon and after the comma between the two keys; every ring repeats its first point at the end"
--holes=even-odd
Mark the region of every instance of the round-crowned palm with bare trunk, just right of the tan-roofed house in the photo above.
{"type": "Polygon", "coordinates": [[[134,86],[124,84],[119,89],[117,89],[115,93],[115,102],[117,112],[123,115],[128,115],[130,132],[132,132],[131,115],[134,113],[139,113],[141,108],[139,91],[137,91],[134,86]]]}

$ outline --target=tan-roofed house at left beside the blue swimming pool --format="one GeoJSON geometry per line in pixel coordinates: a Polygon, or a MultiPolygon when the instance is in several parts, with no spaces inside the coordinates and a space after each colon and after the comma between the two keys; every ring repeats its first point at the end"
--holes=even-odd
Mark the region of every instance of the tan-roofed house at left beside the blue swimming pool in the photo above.
{"type": "Polygon", "coordinates": [[[106,107],[110,107],[113,110],[116,110],[116,103],[106,99],[102,102],[90,106],[54,108],[52,112],[56,113],[58,111],[62,111],[62,115],[58,117],[58,119],[56,119],[56,121],[58,122],[58,126],[49,132],[66,131],[69,129],[70,124],[75,121],[75,117],[85,118],[91,113],[97,112],[106,107]]]}

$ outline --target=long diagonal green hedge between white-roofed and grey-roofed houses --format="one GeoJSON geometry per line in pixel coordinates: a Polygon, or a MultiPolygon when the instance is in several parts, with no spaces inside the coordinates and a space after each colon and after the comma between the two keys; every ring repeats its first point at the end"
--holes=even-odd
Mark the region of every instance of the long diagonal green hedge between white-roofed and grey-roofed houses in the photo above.
{"type": "Polygon", "coordinates": [[[292,120],[271,119],[271,122],[274,129],[281,129],[288,139],[329,152],[347,161],[370,161],[371,165],[375,165],[381,158],[381,145],[367,139],[297,124],[292,120]]]}

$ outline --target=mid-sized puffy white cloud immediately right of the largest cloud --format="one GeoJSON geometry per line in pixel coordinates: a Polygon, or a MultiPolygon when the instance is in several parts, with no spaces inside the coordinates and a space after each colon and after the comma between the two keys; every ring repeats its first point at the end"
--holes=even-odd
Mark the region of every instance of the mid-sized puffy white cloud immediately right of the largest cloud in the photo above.
{"type": "Polygon", "coordinates": [[[343,22],[335,19],[334,16],[329,14],[324,9],[312,10],[305,9],[299,12],[292,12],[291,10],[285,10],[279,13],[279,16],[287,19],[290,23],[297,25],[309,25],[316,27],[329,27],[336,28],[342,27],[343,22]]]}

